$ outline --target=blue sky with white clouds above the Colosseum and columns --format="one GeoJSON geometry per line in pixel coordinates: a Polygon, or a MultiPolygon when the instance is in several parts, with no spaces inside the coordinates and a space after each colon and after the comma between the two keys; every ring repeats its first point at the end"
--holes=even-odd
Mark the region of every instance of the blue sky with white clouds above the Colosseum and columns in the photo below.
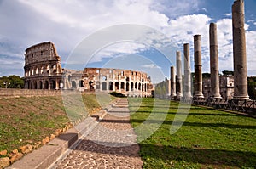
{"type": "MultiPolygon", "coordinates": [[[[25,49],[55,43],[63,67],[113,67],[170,76],[175,52],[201,34],[209,72],[209,24],[218,25],[219,70],[233,70],[233,0],[0,0],[0,76],[23,76],[25,49]]],[[[256,1],[245,0],[247,69],[256,75],[256,1]]]]}

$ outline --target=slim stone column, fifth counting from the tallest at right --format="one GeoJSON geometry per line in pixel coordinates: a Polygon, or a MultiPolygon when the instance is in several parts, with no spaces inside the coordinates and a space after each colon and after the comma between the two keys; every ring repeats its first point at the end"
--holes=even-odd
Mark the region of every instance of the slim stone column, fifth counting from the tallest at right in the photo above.
{"type": "Polygon", "coordinates": [[[182,58],[180,51],[176,52],[176,67],[177,67],[177,99],[183,97],[183,75],[182,75],[182,58]]]}

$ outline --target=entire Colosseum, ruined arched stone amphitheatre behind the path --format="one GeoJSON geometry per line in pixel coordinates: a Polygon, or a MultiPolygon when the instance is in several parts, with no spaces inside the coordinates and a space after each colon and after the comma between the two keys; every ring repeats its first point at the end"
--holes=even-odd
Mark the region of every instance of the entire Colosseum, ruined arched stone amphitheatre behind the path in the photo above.
{"type": "Polygon", "coordinates": [[[144,72],[110,68],[61,68],[61,57],[53,42],[26,48],[25,88],[78,90],[80,92],[117,92],[131,97],[149,97],[153,91],[144,72]]]}

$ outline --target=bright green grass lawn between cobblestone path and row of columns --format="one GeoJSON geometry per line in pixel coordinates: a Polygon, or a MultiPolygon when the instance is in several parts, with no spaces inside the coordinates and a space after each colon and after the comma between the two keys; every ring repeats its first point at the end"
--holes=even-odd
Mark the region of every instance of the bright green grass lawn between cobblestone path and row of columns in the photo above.
{"type": "Polygon", "coordinates": [[[162,122],[151,136],[139,143],[144,168],[256,166],[256,119],[191,106],[183,126],[170,134],[177,109],[184,107],[183,104],[159,99],[154,103],[154,99],[149,98],[129,99],[131,125],[135,127],[137,138],[143,135],[140,128],[143,122],[153,127],[162,122]],[[166,115],[166,118],[152,120],[152,114],[166,115]]]}

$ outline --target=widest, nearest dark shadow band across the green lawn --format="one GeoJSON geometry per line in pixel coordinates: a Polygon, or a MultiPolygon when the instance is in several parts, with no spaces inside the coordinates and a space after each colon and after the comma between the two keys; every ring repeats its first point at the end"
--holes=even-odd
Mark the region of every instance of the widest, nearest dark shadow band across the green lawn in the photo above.
{"type": "MultiPolygon", "coordinates": [[[[186,161],[202,165],[254,167],[256,153],[230,151],[222,149],[200,149],[186,147],[159,146],[155,144],[140,144],[143,159],[154,158],[163,161],[186,161]]],[[[191,164],[192,165],[192,164],[191,164]]]]}

